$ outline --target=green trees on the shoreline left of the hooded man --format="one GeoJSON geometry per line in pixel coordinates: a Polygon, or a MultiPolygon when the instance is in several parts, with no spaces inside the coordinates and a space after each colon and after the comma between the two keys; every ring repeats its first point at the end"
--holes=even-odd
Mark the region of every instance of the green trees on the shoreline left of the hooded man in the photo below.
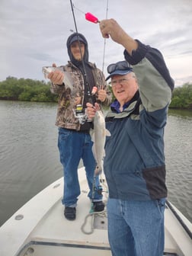
{"type": "Polygon", "coordinates": [[[57,96],[50,92],[50,82],[9,76],[0,82],[0,100],[56,102],[57,96]]]}

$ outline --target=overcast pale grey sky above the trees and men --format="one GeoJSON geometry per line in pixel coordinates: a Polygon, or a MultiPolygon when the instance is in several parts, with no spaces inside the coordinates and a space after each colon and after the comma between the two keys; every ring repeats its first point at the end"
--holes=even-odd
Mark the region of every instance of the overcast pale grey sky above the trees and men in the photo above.
{"type": "MultiPolygon", "coordinates": [[[[131,37],[158,48],[176,85],[192,81],[191,0],[73,0],[78,32],[88,40],[89,60],[98,68],[123,60],[123,46],[101,37],[98,24],[114,18],[131,37]],[[79,11],[81,10],[81,11],[79,11]]],[[[0,81],[8,76],[44,80],[42,66],[65,65],[66,40],[75,31],[69,0],[0,0],[0,81]]]]}

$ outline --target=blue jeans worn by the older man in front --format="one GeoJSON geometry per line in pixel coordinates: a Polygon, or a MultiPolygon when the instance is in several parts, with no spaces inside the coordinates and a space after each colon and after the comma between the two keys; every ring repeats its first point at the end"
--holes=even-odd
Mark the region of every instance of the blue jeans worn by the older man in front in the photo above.
{"type": "Polygon", "coordinates": [[[162,256],[165,199],[108,199],[108,237],[113,256],[162,256]]]}

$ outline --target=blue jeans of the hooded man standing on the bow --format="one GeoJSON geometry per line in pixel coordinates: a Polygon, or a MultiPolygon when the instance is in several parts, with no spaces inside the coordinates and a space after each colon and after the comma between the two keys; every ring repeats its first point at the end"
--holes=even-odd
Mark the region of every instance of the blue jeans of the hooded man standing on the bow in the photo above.
{"type": "MultiPolygon", "coordinates": [[[[82,158],[85,165],[86,178],[88,181],[88,197],[93,201],[101,201],[102,195],[94,190],[94,169],[96,162],[92,153],[91,136],[88,133],[79,133],[72,130],[59,128],[58,148],[60,162],[63,166],[64,189],[62,204],[75,207],[78,196],[81,194],[78,182],[78,164],[82,158]],[[94,197],[94,198],[92,198],[94,197]]],[[[94,187],[99,186],[99,178],[96,177],[94,187]]]]}

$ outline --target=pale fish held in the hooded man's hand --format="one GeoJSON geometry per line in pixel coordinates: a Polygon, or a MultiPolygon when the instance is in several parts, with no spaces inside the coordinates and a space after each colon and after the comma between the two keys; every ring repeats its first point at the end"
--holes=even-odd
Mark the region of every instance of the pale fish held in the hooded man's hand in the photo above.
{"type": "Polygon", "coordinates": [[[42,68],[42,72],[45,78],[47,78],[50,72],[54,72],[56,70],[59,70],[64,73],[64,78],[62,82],[65,84],[66,88],[69,88],[72,91],[72,78],[70,77],[69,72],[64,71],[62,67],[43,66],[42,68]]]}

